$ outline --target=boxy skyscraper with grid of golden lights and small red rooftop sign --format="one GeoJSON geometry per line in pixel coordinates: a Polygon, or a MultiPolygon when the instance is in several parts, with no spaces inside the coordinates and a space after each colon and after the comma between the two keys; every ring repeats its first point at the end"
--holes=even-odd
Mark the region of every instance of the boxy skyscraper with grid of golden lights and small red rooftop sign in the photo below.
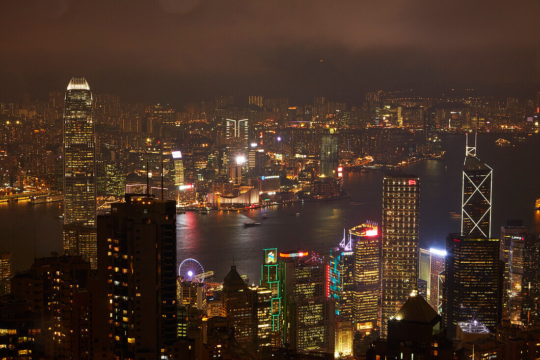
{"type": "Polygon", "coordinates": [[[388,319],[409,298],[418,270],[420,179],[416,175],[387,175],[382,199],[382,315],[381,337],[388,319]]]}

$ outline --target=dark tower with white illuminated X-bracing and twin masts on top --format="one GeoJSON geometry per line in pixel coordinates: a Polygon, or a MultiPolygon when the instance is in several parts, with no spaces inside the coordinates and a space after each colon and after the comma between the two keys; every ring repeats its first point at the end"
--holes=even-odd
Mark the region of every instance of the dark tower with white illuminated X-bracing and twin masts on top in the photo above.
{"type": "Polygon", "coordinates": [[[474,146],[465,145],[461,235],[491,237],[491,181],[493,170],[476,157],[474,146]]]}

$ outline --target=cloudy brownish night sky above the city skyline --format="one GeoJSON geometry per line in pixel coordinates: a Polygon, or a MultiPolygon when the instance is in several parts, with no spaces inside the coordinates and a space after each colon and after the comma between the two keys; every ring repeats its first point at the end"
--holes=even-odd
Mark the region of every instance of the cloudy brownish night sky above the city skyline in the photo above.
{"type": "Polygon", "coordinates": [[[252,93],[354,104],[377,88],[532,98],[538,14],[537,0],[3,1],[0,101],[44,98],[73,76],[171,104],[252,93]]]}

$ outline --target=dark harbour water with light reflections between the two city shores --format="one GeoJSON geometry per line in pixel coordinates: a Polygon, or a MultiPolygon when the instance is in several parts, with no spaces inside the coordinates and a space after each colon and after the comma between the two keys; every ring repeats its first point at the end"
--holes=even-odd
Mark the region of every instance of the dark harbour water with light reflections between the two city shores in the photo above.
{"type": "MultiPolygon", "coordinates": [[[[494,211],[492,237],[507,219],[522,218],[526,226],[540,231],[540,211],[534,210],[540,197],[538,168],[540,142],[537,138],[514,147],[500,147],[501,136],[478,136],[478,157],[494,169],[494,211]]],[[[444,142],[444,161],[426,161],[405,170],[420,177],[421,246],[444,246],[446,236],[460,229],[461,168],[464,137],[449,136],[444,142]]],[[[210,211],[208,215],[187,212],[177,217],[178,264],[193,257],[205,270],[216,272],[216,281],[227,274],[233,261],[240,274],[258,282],[262,249],[278,251],[319,250],[337,246],[343,228],[351,228],[367,219],[381,222],[381,171],[345,173],[343,184],[352,196],[330,202],[309,202],[273,206],[245,212],[210,211]],[[299,212],[300,215],[295,214],[299,212]],[[267,219],[262,219],[263,215],[267,219]],[[261,222],[245,228],[245,222],[261,222]]],[[[61,252],[62,221],[58,203],[29,205],[0,203],[0,251],[12,250],[14,269],[28,269],[33,261],[33,229],[36,228],[36,254],[48,256],[61,252]]]]}

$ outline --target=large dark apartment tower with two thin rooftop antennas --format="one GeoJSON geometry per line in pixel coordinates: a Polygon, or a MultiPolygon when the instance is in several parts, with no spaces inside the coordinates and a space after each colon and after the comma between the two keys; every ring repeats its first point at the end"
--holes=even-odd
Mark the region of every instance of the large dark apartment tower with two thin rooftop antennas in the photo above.
{"type": "Polygon", "coordinates": [[[176,340],[176,254],[174,201],[126,194],[98,217],[96,346],[103,357],[161,358],[176,340]]]}

